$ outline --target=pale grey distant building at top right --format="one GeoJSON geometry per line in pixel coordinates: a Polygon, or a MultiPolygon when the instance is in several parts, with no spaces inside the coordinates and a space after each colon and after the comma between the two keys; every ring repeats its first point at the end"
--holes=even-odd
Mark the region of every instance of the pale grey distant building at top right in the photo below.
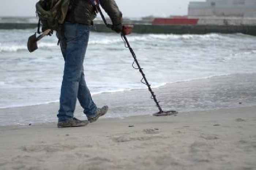
{"type": "Polygon", "coordinates": [[[256,17],[256,0],[206,0],[190,2],[189,16],[256,17]]]}

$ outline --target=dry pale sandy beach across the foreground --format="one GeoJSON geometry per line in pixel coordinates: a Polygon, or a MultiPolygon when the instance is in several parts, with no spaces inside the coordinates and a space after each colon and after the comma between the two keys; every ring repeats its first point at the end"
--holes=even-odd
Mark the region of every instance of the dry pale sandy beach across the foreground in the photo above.
{"type": "Polygon", "coordinates": [[[256,106],[0,126],[1,170],[255,170],[256,106]],[[130,126],[130,127],[129,127],[130,126]]]}

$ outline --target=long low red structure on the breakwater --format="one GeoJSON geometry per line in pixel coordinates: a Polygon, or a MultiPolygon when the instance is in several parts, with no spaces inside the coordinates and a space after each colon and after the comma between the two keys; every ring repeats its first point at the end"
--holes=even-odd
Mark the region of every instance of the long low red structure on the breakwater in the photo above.
{"type": "Polygon", "coordinates": [[[189,18],[155,18],[153,25],[196,25],[199,19],[189,18]]]}

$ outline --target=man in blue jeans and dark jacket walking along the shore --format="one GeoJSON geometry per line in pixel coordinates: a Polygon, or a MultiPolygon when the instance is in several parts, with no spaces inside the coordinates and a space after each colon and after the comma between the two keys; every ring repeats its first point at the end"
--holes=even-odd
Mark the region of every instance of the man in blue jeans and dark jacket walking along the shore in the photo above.
{"type": "MultiPolygon", "coordinates": [[[[122,14],[114,0],[100,0],[112,20],[112,30],[122,30],[122,14]]],[[[91,0],[71,0],[62,31],[57,32],[65,60],[60,94],[58,128],[85,126],[108,112],[108,106],[97,108],[84,80],[83,61],[93,19],[96,17],[91,0]],[[76,101],[84,109],[88,121],[74,118],[76,101]]]]}

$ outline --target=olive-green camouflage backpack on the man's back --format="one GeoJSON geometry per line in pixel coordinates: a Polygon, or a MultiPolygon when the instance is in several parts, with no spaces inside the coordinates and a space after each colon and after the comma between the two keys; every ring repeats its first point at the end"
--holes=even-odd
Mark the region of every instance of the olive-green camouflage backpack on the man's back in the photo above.
{"type": "Polygon", "coordinates": [[[70,0],[40,0],[36,3],[36,14],[39,17],[38,30],[42,24],[42,32],[47,29],[58,31],[66,18],[70,0]]]}

